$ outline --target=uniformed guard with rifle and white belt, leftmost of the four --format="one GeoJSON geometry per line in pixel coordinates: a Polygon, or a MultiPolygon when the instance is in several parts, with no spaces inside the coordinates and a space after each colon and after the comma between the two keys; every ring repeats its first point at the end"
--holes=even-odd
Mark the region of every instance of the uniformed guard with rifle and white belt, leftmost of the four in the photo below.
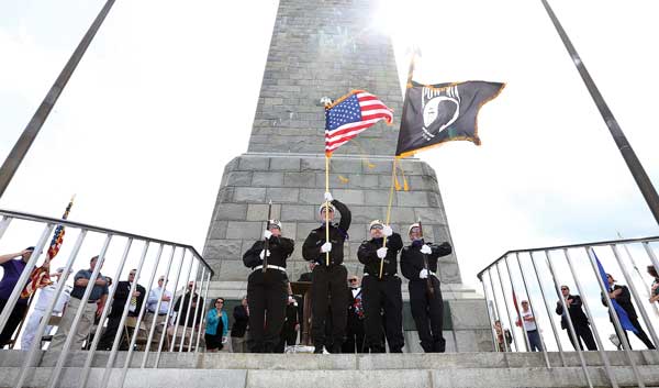
{"type": "Polygon", "coordinates": [[[288,276],[286,259],[293,253],[294,242],[281,236],[281,222],[268,221],[269,229],[245,252],[243,263],[253,269],[247,278],[249,303],[249,351],[273,353],[286,318],[288,276]],[[268,252],[265,251],[268,240],[268,252]],[[264,257],[268,255],[268,268],[264,271],[264,257]],[[267,317],[267,319],[266,319],[267,317]]]}

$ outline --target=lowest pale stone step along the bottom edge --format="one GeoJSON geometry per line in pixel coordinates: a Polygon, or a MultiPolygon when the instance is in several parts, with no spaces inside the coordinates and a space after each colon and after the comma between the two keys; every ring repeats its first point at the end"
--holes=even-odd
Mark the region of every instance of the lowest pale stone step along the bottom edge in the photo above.
{"type": "MultiPolygon", "coordinates": [[[[630,368],[612,367],[621,387],[637,387],[630,368]]],[[[647,386],[659,385],[659,368],[640,366],[647,386]]],[[[0,387],[12,387],[19,368],[0,367],[0,387]]],[[[65,368],[58,387],[78,387],[80,368],[65,368]]],[[[52,368],[31,370],[25,387],[45,387],[52,368]]],[[[590,367],[594,387],[610,387],[601,367],[590,367]]],[[[102,368],[92,368],[88,387],[101,387],[102,368]]],[[[112,369],[109,387],[121,387],[121,369],[112,369]]],[[[322,387],[588,387],[578,367],[562,368],[439,368],[384,370],[270,370],[270,369],[138,369],[127,370],[123,387],[245,387],[245,388],[322,388],[322,387]]]]}

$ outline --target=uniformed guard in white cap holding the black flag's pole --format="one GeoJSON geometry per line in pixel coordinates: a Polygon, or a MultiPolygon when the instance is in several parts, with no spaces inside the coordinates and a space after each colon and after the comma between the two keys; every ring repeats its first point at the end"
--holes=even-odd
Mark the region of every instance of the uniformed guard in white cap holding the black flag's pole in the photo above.
{"type": "Polygon", "coordinates": [[[371,353],[384,353],[382,325],[390,353],[403,353],[403,296],[398,271],[398,254],[403,240],[393,233],[391,226],[380,220],[371,221],[371,240],[365,241],[357,251],[357,258],[364,264],[361,292],[364,295],[364,333],[371,353]],[[383,237],[387,236],[387,246],[383,237]],[[380,277],[380,263],[382,276],[380,277]],[[382,322],[380,311],[384,311],[382,322]]]}

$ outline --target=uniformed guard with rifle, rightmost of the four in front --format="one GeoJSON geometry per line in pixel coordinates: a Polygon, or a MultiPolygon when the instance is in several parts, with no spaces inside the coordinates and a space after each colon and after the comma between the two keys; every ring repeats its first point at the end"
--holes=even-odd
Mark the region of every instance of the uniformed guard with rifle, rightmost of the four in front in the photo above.
{"type": "Polygon", "coordinates": [[[437,278],[437,258],[451,253],[449,243],[426,244],[421,228],[413,223],[409,229],[412,244],[401,253],[401,271],[410,280],[410,307],[425,353],[444,353],[444,300],[437,278]],[[427,258],[427,269],[424,264],[427,258]],[[428,280],[429,279],[429,280],[428,280]],[[429,291],[432,285],[433,292],[429,291]]]}

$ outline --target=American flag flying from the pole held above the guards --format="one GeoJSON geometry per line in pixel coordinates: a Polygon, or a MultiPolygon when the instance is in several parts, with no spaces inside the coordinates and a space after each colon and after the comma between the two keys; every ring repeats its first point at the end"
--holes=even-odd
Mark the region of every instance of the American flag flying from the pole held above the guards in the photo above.
{"type": "Polygon", "coordinates": [[[380,120],[391,124],[392,110],[365,90],[353,90],[326,107],[325,155],[331,156],[336,148],[380,120]]]}

